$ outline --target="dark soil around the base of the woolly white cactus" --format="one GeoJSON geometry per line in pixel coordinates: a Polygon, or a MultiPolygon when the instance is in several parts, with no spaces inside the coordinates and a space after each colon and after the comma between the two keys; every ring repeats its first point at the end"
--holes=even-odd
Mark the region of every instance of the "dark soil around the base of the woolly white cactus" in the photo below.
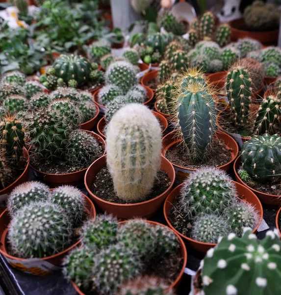
{"type": "MultiPolygon", "coordinates": [[[[154,184],[151,192],[147,195],[144,201],[151,200],[161,195],[171,184],[168,174],[163,170],[159,170],[154,179],[154,184]]],[[[114,191],[114,185],[112,177],[107,169],[104,167],[96,176],[96,179],[92,185],[92,193],[104,201],[117,203],[117,204],[133,204],[137,202],[129,202],[119,199],[114,191]]]]}

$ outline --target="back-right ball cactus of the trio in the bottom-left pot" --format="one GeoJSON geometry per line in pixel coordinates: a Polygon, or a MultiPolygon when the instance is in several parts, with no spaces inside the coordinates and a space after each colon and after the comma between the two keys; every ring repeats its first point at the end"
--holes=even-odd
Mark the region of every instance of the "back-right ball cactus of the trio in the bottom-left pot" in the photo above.
{"type": "Polygon", "coordinates": [[[62,185],[51,192],[52,204],[62,207],[72,226],[75,228],[85,219],[85,197],[72,185],[62,185]]]}

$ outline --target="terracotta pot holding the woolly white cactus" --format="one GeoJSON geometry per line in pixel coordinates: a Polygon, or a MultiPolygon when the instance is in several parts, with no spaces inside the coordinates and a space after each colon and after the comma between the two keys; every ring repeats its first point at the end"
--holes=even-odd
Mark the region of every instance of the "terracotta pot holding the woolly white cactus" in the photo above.
{"type": "Polygon", "coordinates": [[[162,157],[161,169],[168,173],[171,185],[159,196],[140,203],[135,204],[116,204],[102,200],[92,193],[92,185],[95,182],[96,175],[106,166],[106,155],[96,160],[87,170],[85,174],[85,187],[93,202],[108,214],[113,214],[120,219],[129,219],[133,217],[152,217],[161,207],[165,198],[172,190],[175,181],[175,170],[172,164],[162,157]]]}

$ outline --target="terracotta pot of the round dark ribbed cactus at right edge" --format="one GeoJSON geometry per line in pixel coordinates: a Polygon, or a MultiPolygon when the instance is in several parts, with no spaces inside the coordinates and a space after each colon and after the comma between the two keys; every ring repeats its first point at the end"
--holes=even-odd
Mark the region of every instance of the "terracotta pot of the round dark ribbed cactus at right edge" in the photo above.
{"type": "Polygon", "coordinates": [[[273,206],[280,206],[281,205],[281,198],[280,196],[277,195],[270,195],[270,194],[266,194],[266,193],[262,193],[259,192],[257,190],[255,190],[254,188],[252,188],[251,186],[247,185],[238,175],[238,170],[241,167],[241,156],[239,156],[235,162],[234,162],[234,174],[235,174],[235,179],[237,182],[243,184],[245,187],[247,187],[248,189],[250,189],[252,192],[255,193],[255,195],[258,197],[258,199],[264,203],[264,204],[268,204],[268,205],[273,205],[273,206]]]}

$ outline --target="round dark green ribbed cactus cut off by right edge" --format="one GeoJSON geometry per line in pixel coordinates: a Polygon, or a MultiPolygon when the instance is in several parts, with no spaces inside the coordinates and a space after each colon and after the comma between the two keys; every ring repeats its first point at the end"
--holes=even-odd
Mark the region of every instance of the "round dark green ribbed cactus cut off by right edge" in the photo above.
{"type": "Polygon", "coordinates": [[[254,136],[242,146],[243,169],[254,179],[270,181],[281,174],[281,136],[278,134],[254,136]]]}

